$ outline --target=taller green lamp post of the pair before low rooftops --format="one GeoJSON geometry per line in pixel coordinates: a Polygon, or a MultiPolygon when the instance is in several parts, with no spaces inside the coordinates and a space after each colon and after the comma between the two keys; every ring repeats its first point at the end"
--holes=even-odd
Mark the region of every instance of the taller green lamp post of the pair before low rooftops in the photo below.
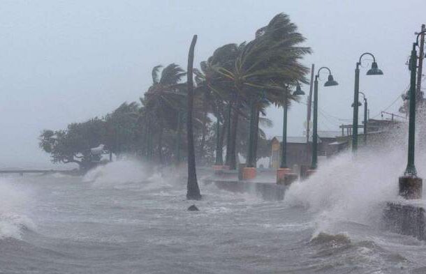
{"type": "MultiPolygon", "coordinates": [[[[361,54],[360,60],[356,63],[355,68],[355,89],[353,92],[353,104],[358,102],[358,96],[360,93],[360,65],[362,57],[369,55],[373,57],[372,68],[367,71],[367,75],[383,75],[383,71],[379,69],[376,63],[376,58],[373,54],[365,52],[361,54]]],[[[353,121],[352,121],[352,151],[356,152],[358,149],[358,107],[353,108],[353,121]]]]}

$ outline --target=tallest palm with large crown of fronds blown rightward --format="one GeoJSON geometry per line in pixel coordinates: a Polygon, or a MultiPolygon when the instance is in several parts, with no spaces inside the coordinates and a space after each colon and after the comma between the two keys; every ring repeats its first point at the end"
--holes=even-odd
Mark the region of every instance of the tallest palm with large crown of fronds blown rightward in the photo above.
{"type": "MultiPolygon", "coordinates": [[[[288,15],[280,13],[267,26],[256,31],[256,38],[238,47],[237,58],[232,70],[217,67],[216,71],[235,86],[235,106],[232,125],[230,168],[236,168],[235,132],[237,132],[238,109],[242,103],[253,105],[259,98],[272,103],[281,102],[282,93],[286,92],[283,84],[295,85],[297,81],[306,82],[304,75],[308,68],[300,63],[304,54],[311,52],[309,47],[300,47],[304,42],[302,34],[297,33],[297,26],[288,15]]],[[[251,119],[256,120],[256,109],[251,112],[251,119]]],[[[255,121],[251,122],[256,127],[255,121]]],[[[255,130],[251,131],[255,134],[255,130]]],[[[251,150],[253,140],[251,137],[251,150]]],[[[250,163],[253,165],[253,161],[250,163]]]]}

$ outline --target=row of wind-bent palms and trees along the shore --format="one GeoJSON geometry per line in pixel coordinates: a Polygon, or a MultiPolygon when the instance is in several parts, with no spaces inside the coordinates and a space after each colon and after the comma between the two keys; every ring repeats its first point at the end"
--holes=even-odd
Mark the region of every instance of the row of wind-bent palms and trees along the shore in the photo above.
{"type": "MultiPolygon", "coordinates": [[[[309,47],[287,15],[276,15],[256,31],[254,40],[227,44],[193,69],[193,135],[198,165],[237,167],[238,155],[256,159],[269,155],[269,141],[261,128],[270,105],[289,105],[291,94],[307,82],[308,68],[300,63],[309,47]],[[223,157],[224,156],[224,157],[223,157]]],[[[155,66],[152,85],[139,102],[124,102],[113,112],[64,130],[43,130],[41,149],[52,162],[73,162],[89,169],[101,158],[91,149],[103,149],[118,158],[135,158],[157,165],[179,165],[187,157],[186,72],[177,64],[155,66]]]]}

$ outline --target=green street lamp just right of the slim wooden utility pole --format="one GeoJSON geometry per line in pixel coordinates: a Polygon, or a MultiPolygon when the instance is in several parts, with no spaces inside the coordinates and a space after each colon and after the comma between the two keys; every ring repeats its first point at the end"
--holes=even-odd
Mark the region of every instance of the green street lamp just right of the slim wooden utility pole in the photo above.
{"type": "MultiPolygon", "coordinates": [[[[338,83],[333,78],[330,68],[321,67],[315,75],[314,81],[314,125],[312,129],[312,163],[311,169],[318,167],[318,77],[321,70],[328,70],[328,80],[324,86],[337,86],[338,83]]],[[[357,100],[358,101],[358,100],[357,100]]],[[[356,108],[356,107],[355,107],[356,108]]]]}

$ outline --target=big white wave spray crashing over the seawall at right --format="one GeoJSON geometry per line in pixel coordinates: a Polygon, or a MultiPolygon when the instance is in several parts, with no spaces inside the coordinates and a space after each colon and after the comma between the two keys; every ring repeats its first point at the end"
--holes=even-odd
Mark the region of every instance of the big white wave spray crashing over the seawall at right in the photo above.
{"type": "Polygon", "coordinates": [[[306,181],[294,183],[285,201],[316,213],[319,233],[337,222],[378,224],[383,203],[397,197],[397,180],[405,168],[404,151],[339,155],[321,165],[306,181]],[[404,159],[404,160],[402,160],[404,159]]]}

